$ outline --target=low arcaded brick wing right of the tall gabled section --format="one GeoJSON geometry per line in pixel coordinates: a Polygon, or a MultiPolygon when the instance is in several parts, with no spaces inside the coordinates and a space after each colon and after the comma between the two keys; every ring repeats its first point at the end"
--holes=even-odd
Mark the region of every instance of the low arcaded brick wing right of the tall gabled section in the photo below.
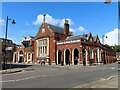
{"type": "Polygon", "coordinates": [[[116,61],[115,52],[100,43],[98,36],[91,33],[69,36],[66,40],[57,42],[57,64],[100,64],[116,61]]]}

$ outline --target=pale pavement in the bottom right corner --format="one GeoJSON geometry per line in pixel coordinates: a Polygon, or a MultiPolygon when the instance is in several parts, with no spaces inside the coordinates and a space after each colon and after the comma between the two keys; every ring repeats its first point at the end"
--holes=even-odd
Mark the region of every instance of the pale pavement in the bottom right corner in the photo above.
{"type": "MultiPolygon", "coordinates": [[[[120,78],[120,76],[119,76],[120,78]]],[[[74,88],[118,88],[118,76],[100,79],[74,88]]]]}

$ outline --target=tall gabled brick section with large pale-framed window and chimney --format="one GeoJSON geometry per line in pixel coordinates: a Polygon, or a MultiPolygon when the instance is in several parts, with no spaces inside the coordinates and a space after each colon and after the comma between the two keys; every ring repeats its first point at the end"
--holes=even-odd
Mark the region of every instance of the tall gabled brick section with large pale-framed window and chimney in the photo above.
{"type": "Polygon", "coordinates": [[[65,21],[64,29],[42,23],[34,42],[34,60],[45,60],[49,63],[56,61],[57,41],[65,40],[69,33],[68,21],[65,21]]]}

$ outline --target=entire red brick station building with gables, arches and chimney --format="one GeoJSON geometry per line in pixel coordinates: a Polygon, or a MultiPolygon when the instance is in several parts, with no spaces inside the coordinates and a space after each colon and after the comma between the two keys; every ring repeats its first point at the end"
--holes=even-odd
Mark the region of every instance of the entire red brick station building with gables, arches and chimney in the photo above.
{"type": "Polygon", "coordinates": [[[112,63],[116,60],[115,52],[100,43],[99,37],[92,33],[72,36],[69,31],[68,20],[64,28],[54,26],[44,21],[37,35],[30,39],[32,45],[21,45],[14,53],[13,62],[40,62],[61,64],[99,64],[112,63]],[[15,56],[17,55],[17,56],[15,56]],[[17,57],[15,59],[15,57],[17,57]],[[23,59],[23,57],[25,59],[23,59]],[[21,58],[21,59],[20,59],[21,58]]]}

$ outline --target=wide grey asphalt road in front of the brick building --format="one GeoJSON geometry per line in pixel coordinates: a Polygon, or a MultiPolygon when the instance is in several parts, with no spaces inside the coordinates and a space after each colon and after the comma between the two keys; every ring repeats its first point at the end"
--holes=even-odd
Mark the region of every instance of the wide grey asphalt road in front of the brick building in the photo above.
{"type": "Polygon", "coordinates": [[[2,88],[74,88],[118,75],[118,64],[96,66],[33,65],[22,72],[4,74],[2,88]]]}

